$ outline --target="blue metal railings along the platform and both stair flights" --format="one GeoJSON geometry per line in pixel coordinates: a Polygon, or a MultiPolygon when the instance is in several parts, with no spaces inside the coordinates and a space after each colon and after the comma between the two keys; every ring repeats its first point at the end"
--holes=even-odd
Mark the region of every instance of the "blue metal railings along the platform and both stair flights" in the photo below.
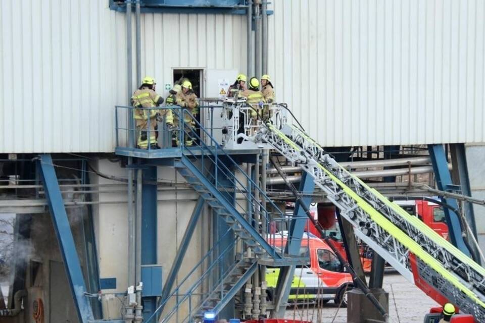
{"type": "MultiPolygon", "coordinates": [[[[125,109],[129,112],[129,114],[132,114],[134,108],[126,106],[117,106],[116,108],[116,143],[118,146],[120,144],[118,132],[127,131],[128,137],[132,136],[131,138],[134,139],[136,138],[136,131],[143,129],[129,129],[129,127],[120,127],[118,123],[118,109],[125,109]]],[[[199,173],[204,174],[204,176],[210,181],[210,185],[213,185],[220,193],[223,193],[221,199],[223,199],[226,203],[233,205],[238,212],[243,213],[241,214],[243,219],[239,219],[239,221],[245,222],[246,227],[254,228],[252,234],[257,232],[256,234],[259,235],[259,240],[261,243],[266,243],[271,246],[271,252],[268,252],[270,257],[279,259],[290,257],[289,254],[285,253],[286,248],[284,248],[287,240],[302,239],[301,237],[288,237],[287,234],[284,234],[284,231],[289,231],[290,223],[294,221],[295,218],[286,216],[286,214],[281,211],[277,205],[264,193],[264,191],[260,188],[260,185],[255,183],[251,177],[251,174],[246,174],[246,172],[239,167],[237,162],[219,145],[213,136],[213,131],[217,128],[212,128],[211,125],[212,129],[206,129],[189,111],[182,109],[179,106],[161,107],[147,110],[164,109],[172,109],[172,113],[174,117],[177,117],[178,123],[176,125],[176,129],[162,129],[159,131],[159,133],[163,133],[163,136],[165,136],[166,133],[166,136],[169,136],[170,138],[172,135],[176,135],[178,137],[178,147],[176,149],[180,149],[180,151],[183,153],[183,156],[185,156],[184,160],[187,160],[190,166],[197,169],[199,173]],[[185,122],[184,120],[189,122],[185,122]],[[185,144],[184,137],[189,137],[192,139],[193,143],[191,146],[187,146],[185,144]],[[259,197],[257,198],[256,195],[259,195],[259,197]],[[240,198],[241,196],[245,197],[243,203],[241,203],[237,198],[240,198]],[[266,201],[266,206],[263,201],[266,201]],[[250,209],[248,209],[248,206],[250,209]],[[269,208],[271,208],[271,211],[269,211],[269,208]],[[254,218],[254,214],[259,214],[259,217],[254,218]],[[265,228],[265,230],[263,230],[263,228],[265,228]],[[278,229],[275,230],[275,228],[278,229]]],[[[210,113],[212,115],[214,114],[214,106],[210,106],[207,109],[210,109],[210,113]]],[[[147,137],[150,138],[150,133],[154,130],[147,127],[146,131],[147,137]]],[[[147,150],[152,150],[150,145],[148,145],[147,148],[147,150]]],[[[240,250],[246,250],[247,246],[244,243],[245,241],[243,240],[243,243],[238,243],[238,241],[241,241],[241,239],[237,236],[236,239],[234,239],[233,244],[229,246],[224,245],[224,249],[222,251],[220,250],[221,241],[229,232],[232,232],[232,230],[228,230],[228,232],[226,232],[223,237],[220,238],[216,245],[209,250],[209,252],[192,268],[189,274],[185,276],[185,278],[180,282],[180,284],[178,284],[167,299],[162,300],[162,303],[148,321],[153,321],[153,318],[160,314],[167,302],[170,299],[173,300],[174,298],[175,305],[163,317],[164,321],[169,320],[174,315],[178,315],[180,309],[182,308],[185,308],[185,315],[188,307],[188,315],[185,316],[183,320],[186,320],[195,314],[193,311],[198,309],[206,298],[211,295],[214,288],[216,288],[226,279],[226,275],[237,263],[224,263],[227,262],[227,256],[230,253],[233,254],[236,252],[241,252],[236,251],[237,248],[240,248],[240,250]],[[204,266],[204,263],[207,263],[207,266],[204,266]],[[184,289],[189,282],[189,277],[191,277],[192,274],[196,273],[198,270],[202,271],[202,268],[205,267],[207,267],[207,270],[202,273],[196,282],[184,289]],[[220,267],[224,267],[226,270],[221,273],[219,272],[220,267]],[[216,279],[214,279],[214,277],[216,277],[216,279]],[[202,291],[204,287],[205,290],[202,291]]],[[[308,239],[308,235],[305,239],[308,239]]],[[[243,254],[241,253],[241,257],[242,256],[243,254]]],[[[253,261],[256,260],[253,258],[253,261]]],[[[222,299],[224,295],[220,296],[222,299]]],[[[178,316],[176,320],[178,321],[178,316]]]]}

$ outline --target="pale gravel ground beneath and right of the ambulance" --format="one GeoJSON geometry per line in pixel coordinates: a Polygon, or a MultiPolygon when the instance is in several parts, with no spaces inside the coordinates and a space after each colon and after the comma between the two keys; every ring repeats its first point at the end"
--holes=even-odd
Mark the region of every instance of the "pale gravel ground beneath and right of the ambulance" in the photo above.
{"type": "MultiPolygon", "coordinates": [[[[429,312],[429,308],[437,306],[435,301],[399,274],[387,274],[384,277],[384,290],[389,293],[390,322],[421,323],[424,315],[429,312]],[[394,299],[391,286],[394,291],[394,299]],[[394,305],[394,300],[396,301],[396,305],[394,305]]],[[[333,302],[323,305],[320,309],[314,306],[302,305],[296,310],[288,307],[285,318],[293,319],[294,315],[295,319],[310,320],[314,323],[347,322],[347,308],[338,309],[337,305],[333,304],[333,302]]]]}

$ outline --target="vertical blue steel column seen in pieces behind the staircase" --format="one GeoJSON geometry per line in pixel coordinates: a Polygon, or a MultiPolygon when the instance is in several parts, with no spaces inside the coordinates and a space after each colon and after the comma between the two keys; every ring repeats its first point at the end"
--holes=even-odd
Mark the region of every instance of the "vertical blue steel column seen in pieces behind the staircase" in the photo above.
{"type": "MultiPolygon", "coordinates": [[[[225,190],[220,190],[220,193],[233,205],[235,203],[235,187],[234,187],[234,180],[229,180],[224,172],[221,172],[220,168],[214,169],[214,176],[217,172],[217,183],[215,183],[216,188],[219,186],[224,186],[225,190]]],[[[212,218],[212,225],[213,225],[213,245],[215,246],[221,236],[230,229],[229,225],[219,216],[219,213],[213,210],[213,218],[212,218]]],[[[234,233],[230,232],[225,237],[222,238],[221,244],[219,247],[220,250],[225,250],[229,245],[234,244],[234,233]]],[[[219,265],[218,271],[216,275],[213,275],[214,282],[217,281],[218,278],[222,277],[223,273],[227,271],[229,266],[234,263],[234,254],[228,252],[227,255],[222,259],[222,263],[219,265]]],[[[219,312],[218,316],[220,318],[232,318],[234,317],[234,309],[235,304],[234,300],[231,300],[227,303],[227,305],[219,312]]]]}

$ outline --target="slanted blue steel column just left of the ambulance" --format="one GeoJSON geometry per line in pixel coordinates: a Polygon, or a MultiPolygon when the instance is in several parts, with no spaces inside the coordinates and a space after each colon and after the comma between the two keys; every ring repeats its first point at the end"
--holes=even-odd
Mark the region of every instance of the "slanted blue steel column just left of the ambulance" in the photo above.
{"type": "MultiPolygon", "coordinates": [[[[303,203],[305,203],[306,207],[310,207],[310,203],[312,198],[310,197],[313,194],[315,189],[315,183],[313,179],[307,175],[307,173],[303,173],[302,180],[300,182],[300,189],[299,191],[303,194],[308,194],[307,197],[303,197],[303,203]]],[[[303,232],[305,230],[305,224],[307,223],[307,215],[305,213],[304,208],[300,205],[300,202],[295,203],[295,210],[293,212],[293,216],[296,217],[290,223],[288,242],[286,243],[286,250],[285,252],[288,254],[298,255],[300,252],[300,247],[302,244],[302,237],[303,232]]],[[[283,317],[284,311],[286,310],[286,302],[289,296],[289,291],[292,288],[292,280],[295,274],[295,266],[284,266],[281,267],[278,276],[278,282],[276,283],[276,290],[275,290],[275,309],[274,313],[276,317],[283,317]]],[[[274,316],[274,315],[273,315],[274,316]]]]}

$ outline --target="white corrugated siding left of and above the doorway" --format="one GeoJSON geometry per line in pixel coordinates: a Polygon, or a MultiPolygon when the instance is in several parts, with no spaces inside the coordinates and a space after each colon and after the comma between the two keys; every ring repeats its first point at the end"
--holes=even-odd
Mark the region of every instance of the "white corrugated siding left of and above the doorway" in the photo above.
{"type": "MultiPolygon", "coordinates": [[[[125,15],[108,0],[3,0],[0,20],[0,152],[114,151],[125,15]]],[[[172,67],[246,68],[244,16],[143,14],[141,28],[142,74],[159,91],[172,67]]],[[[133,52],[134,36],[133,15],[133,52]]]]}

